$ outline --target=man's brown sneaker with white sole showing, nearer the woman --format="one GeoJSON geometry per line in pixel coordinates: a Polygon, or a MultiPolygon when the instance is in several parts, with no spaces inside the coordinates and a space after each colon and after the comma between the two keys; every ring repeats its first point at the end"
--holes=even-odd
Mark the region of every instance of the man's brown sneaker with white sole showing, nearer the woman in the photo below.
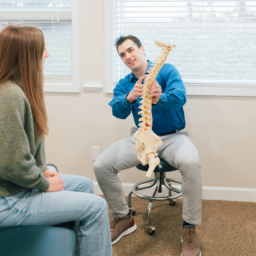
{"type": "Polygon", "coordinates": [[[112,245],[118,242],[123,236],[136,231],[136,228],[137,226],[134,222],[133,214],[131,214],[129,218],[114,218],[113,222],[110,223],[112,245]]]}

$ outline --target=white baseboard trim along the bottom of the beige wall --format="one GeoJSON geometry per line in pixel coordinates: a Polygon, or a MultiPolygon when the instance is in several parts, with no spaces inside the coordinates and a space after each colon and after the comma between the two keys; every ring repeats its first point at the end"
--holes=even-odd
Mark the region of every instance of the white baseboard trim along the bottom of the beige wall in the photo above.
{"type": "MultiPolygon", "coordinates": [[[[133,183],[122,183],[123,193],[128,196],[131,192],[133,183]]],[[[97,181],[93,181],[95,194],[103,195],[97,181]]],[[[180,189],[181,186],[173,186],[180,189]]],[[[163,193],[167,189],[163,189],[163,193]],[[165,191],[164,191],[165,190],[165,191]]],[[[133,195],[134,196],[134,195],[133,195]]],[[[243,187],[202,187],[202,199],[207,200],[226,200],[226,201],[240,201],[240,202],[256,202],[256,189],[243,187]]]]}

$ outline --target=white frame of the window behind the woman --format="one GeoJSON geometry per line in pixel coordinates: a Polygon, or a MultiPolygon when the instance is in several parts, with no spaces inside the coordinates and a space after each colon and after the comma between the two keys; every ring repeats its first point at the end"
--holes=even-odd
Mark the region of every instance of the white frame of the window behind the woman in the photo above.
{"type": "MultiPolygon", "coordinates": [[[[49,13],[54,13],[55,9],[33,9],[33,19],[40,20],[42,17],[49,16],[49,13]]],[[[24,11],[31,11],[25,9],[24,11]]],[[[61,12],[60,9],[57,10],[61,12]]],[[[63,10],[65,11],[65,10],[63,10]]],[[[19,20],[17,16],[13,16],[15,11],[12,9],[0,10],[1,19],[4,20],[19,20]]],[[[18,11],[17,11],[18,12],[18,11]]],[[[31,15],[30,15],[31,17],[31,15]]],[[[44,92],[63,92],[63,93],[80,93],[80,43],[79,43],[79,0],[72,0],[72,78],[60,79],[60,76],[45,77],[43,87],[44,92]]],[[[46,42],[47,43],[47,42],[46,42]]],[[[51,55],[51,52],[49,52],[51,55]]]]}

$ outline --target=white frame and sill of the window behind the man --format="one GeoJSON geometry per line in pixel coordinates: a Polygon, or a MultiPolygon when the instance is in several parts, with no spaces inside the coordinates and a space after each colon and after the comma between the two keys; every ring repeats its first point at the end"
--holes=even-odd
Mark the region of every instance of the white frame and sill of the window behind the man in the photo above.
{"type": "MultiPolygon", "coordinates": [[[[105,93],[113,93],[113,1],[105,1],[105,93]]],[[[157,39],[155,39],[157,40],[157,39]]],[[[155,56],[157,57],[157,55],[155,56]]],[[[187,95],[256,96],[255,84],[184,83],[187,95]]]]}

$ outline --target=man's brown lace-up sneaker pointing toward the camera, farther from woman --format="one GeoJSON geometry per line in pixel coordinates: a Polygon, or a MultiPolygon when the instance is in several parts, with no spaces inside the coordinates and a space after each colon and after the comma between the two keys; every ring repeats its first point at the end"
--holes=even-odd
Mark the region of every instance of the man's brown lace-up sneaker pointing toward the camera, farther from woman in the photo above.
{"type": "Polygon", "coordinates": [[[181,256],[201,256],[200,245],[195,228],[190,228],[189,226],[183,228],[181,243],[183,243],[181,256]]]}

